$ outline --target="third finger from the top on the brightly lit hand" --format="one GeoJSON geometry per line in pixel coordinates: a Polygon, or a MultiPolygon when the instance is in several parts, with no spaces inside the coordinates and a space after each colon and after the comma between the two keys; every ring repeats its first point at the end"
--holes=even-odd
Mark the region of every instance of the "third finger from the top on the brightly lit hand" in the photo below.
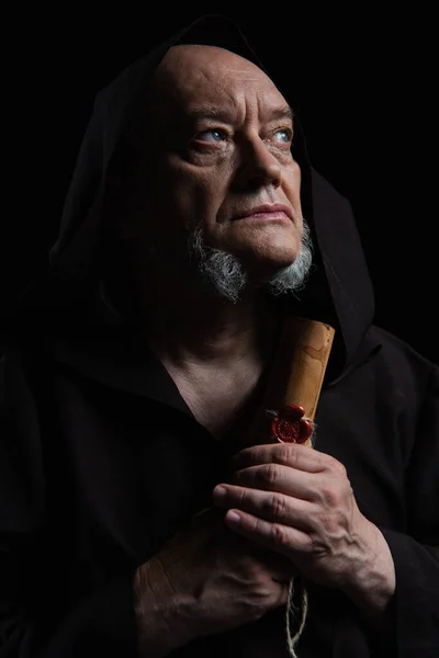
{"type": "Polygon", "coordinates": [[[213,499],[214,503],[223,509],[236,508],[260,519],[283,523],[305,532],[314,530],[315,506],[278,491],[222,485],[215,487],[213,499]]]}

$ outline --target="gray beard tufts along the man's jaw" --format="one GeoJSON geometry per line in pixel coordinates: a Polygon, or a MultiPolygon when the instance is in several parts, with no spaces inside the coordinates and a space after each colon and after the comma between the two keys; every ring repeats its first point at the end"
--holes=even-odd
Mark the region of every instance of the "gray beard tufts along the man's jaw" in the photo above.
{"type": "MultiPolygon", "coordinates": [[[[204,284],[219,297],[236,304],[247,285],[247,274],[240,261],[226,251],[213,249],[204,242],[202,227],[198,226],[189,236],[189,254],[191,264],[201,275],[204,284]]],[[[288,292],[296,292],[304,287],[313,261],[313,242],[309,227],[303,222],[301,250],[295,261],[282,268],[260,286],[269,294],[279,296],[288,292]]]]}

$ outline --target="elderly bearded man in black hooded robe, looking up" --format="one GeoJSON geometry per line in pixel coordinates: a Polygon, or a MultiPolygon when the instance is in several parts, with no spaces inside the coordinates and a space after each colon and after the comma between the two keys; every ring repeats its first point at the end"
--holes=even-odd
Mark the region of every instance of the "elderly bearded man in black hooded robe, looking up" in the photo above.
{"type": "Polygon", "coordinates": [[[0,656],[288,656],[291,578],[301,658],[436,655],[437,368],[371,324],[349,205],[232,25],[100,94],[50,257],[2,362],[0,656]],[[315,447],[251,435],[294,315],[336,328],[315,447]]]}

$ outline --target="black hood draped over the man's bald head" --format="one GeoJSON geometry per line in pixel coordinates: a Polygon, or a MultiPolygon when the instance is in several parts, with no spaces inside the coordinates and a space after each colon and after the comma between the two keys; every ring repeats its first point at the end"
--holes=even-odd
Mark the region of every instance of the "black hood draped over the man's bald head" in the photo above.
{"type": "MultiPolygon", "coordinates": [[[[40,324],[52,332],[61,331],[63,325],[71,329],[72,322],[81,322],[83,327],[90,321],[94,325],[115,321],[99,309],[97,313],[102,304],[97,287],[102,266],[102,209],[109,169],[153,71],[172,45],[183,43],[215,45],[250,59],[266,71],[294,107],[291,102],[294,80],[285,79],[284,70],[268,71],[241,31],[222,16],[199,19],[126,68],[97,94],[47,273],[22,297],[15,321],[10,325],[10,336],[16,334],[19,326],[26,331],[30,318],[34,328],[40,324]],[[278,80],[279,72],[282,80],[278,80]]],[[[296,306],[297,315],[336,328],[335,375],[352,365],[362,353],[360,347],[374,311],[373,292],[350,204],[311,167],[297,120],[292,149],[302,170],[302,208],[312,231],[315,264],[305,290],[299,294],[300,300],[291,297],[291,303],[296,306]]]]}

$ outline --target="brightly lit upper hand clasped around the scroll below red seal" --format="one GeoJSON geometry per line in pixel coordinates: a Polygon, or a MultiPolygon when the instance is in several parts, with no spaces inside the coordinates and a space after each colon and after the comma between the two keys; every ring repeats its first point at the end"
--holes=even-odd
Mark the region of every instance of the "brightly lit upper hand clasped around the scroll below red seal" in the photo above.
{"type": "Polygon", "coordinates": [[[241,451],[234,466],[225,492],[214,490],[232,530],[288,556],[315,582],[345,591],[367,613],[386,606],[395,588],[392,555],[361,514],[340,462],[275,443],[241,451]]]}

